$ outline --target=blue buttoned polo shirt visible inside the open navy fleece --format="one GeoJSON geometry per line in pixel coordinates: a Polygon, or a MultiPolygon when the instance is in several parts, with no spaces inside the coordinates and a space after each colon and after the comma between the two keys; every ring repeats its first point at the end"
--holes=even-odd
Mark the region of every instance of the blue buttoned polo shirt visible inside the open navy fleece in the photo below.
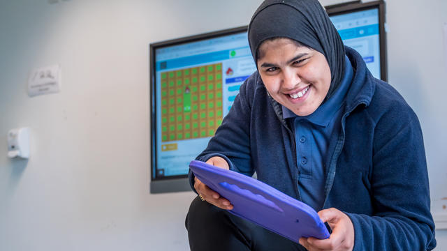
{"type": "Polygon", "coordinates": [[[301,200],[320,211],[324,204],[325,160],[333,133],[339,133],[346,93],[351,86],[353,68],[346,56],[344,77],[330,99],[308,116],[298,116],[282,107],[284,119],[291,121],[295,133],[298,164],[298,189],[301,200]]]}

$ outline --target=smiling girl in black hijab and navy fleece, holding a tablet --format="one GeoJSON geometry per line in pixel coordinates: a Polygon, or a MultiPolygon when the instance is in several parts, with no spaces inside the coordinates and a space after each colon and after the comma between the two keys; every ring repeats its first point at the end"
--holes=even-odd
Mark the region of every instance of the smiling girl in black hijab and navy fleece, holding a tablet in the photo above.
{"type": "MultiPolygon", "coordinates": [[[[312,206],[330,238],[293,243],[228,213],[190,172],[191,250],[432,250],[423,135],[392,86],[344,47],[316,0],[267,0],[249,24],[257,71],[197,160],[312,206]]],[[[256,213],[256,212],[253,212],[256,213]]]]}

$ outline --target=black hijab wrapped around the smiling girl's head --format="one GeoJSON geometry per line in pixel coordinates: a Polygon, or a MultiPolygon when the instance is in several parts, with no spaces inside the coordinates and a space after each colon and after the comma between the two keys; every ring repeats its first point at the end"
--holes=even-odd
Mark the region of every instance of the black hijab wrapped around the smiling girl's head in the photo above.
{"type": "Polygon", "coordinates": [[[317,0],[265,0],[249,24],[249,44],[254,61],[258,47],[271,38],[290,38],[321,52],[330,68],[328,95],[332,96],[344,76],[342,38],[317,0]]]}

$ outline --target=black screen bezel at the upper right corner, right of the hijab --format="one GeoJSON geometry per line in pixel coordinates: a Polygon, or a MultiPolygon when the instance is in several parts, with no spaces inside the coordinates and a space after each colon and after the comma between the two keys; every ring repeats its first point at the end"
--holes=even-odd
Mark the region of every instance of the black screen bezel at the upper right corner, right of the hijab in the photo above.
{"type": "Polygon", "coordinates": [[[383,0],[370,1],[367,3],[348,3],[335,6],[327,6],[326,12],[329,16],[343,15],[354,13],[362,10],[379,10],[379,49],[380,49],[380,78],[388,81],[388,66],[387,66],[387,53],[386,53],[386,31],[385,31],[385,2],[383,0]]]}

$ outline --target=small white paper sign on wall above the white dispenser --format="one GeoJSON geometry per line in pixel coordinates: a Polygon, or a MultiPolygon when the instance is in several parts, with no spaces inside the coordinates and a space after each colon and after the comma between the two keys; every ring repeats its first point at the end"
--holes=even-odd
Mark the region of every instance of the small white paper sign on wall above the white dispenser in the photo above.
{"type": "Polygon", "coordinates": [[[61,69],[59,65],[45,66],[31,71],[28,81],[30,97],[59,93],[61,91],[61,69]]]}

